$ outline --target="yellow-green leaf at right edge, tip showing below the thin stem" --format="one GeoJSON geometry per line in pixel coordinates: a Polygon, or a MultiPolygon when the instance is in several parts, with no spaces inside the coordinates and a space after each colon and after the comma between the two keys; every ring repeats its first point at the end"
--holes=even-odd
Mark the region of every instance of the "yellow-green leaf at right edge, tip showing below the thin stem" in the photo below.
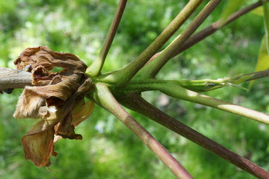
{"type": "MultiPolygon", "coordinates": [[[[266,42],[266,36],[263,37],[261,47],[260,47],[260,52],[259,52],[259,57],[256,65],[255,72],[258,71],[263,71],[269,69],[269,55],[268,55],[268,50],[267,50],[267,42],[266,42]]],[[[251,81],[249,85],[249,89],[253,85],[254,80],[251,81]]]]}

